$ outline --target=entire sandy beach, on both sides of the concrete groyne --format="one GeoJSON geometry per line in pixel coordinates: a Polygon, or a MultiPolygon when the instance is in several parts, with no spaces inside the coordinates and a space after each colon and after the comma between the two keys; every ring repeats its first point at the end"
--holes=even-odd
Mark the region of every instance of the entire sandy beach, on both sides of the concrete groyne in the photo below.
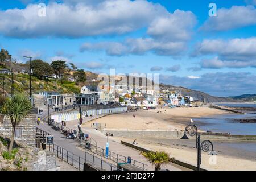
{"type": "MultiPolygon", "coordinates": [[[[94,119],[82,125],[90,127],[91,123],[105,123],[107,130],[177,130],[184,131],[184,127],[190,123],[190,119],[214,117],[216,115],[228,115],[228,111],[213,109],[210,107],[177,107],[154,110],[139,110],[131,113],[110,114],[105,117],[94,119]],[[133,117],[135,115],[135,118],[133,117]]],[[[125,131],[123,131],[125,132],[125,131]]],[[[149,150],[163,150],[176,159],[183,162],[197,164],[196,141],[193,139],[168,139],[146,137],[111,137],[110,139],[120,142],[121,140],[132,143],[137,139],[138,145],[149,150]]],[[[226,142],[214,141],[214,150],[217,151],[216,164],[210,164],[207,152],[203,152],[201,167],[209,170],[255,170],[255,147],[253,150],[245,146],[255,146],[256,142],[226,142]]]]}

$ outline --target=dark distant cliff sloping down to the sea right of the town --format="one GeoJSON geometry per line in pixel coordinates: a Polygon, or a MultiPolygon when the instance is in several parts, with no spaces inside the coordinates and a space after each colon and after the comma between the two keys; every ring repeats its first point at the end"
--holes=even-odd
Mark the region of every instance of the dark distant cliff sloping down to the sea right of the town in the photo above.
{"type": "Polygon", "coordinates": [[[159,90],[166,90],[166,89],[173,90],[176,92],[181,92],[184,96],[195,97],[202,102],[204,101],[204,99],[206,102],[245,102],[244,100],[240,100],[240,99],[210,96],[207,93],[191,90],[181,86],[159,84],[159,90]]]}

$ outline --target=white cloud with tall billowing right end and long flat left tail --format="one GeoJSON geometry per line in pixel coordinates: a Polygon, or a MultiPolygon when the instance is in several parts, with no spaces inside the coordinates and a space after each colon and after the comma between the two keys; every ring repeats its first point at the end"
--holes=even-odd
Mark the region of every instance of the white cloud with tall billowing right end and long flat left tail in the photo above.
{"type": "MultiPolygon", "coordinates": [[[[137,20],[137,19],[135,19],[137,20]]],[[[191,11],[176,10],[168,13],[165,9],[155,16],[149,25],[147,38],[127,38],[123,42],[84,43],[80,51],[105,51],[108,55],[143,55],[154,52],[157,55],[177,56],[187,50],[196,17],[191,11]]]]}

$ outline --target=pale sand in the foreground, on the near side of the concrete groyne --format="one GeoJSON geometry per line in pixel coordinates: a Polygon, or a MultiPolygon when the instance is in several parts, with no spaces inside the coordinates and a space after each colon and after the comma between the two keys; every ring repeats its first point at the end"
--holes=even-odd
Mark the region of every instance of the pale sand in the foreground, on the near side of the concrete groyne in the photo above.
{"type": "MultiPolygon", "coordinates": [[[[117,138],[118,140],[125,140],[126,142],[133,142],[132,139],[129,138],[117,138]]],[[[141,140],[137,139],[140,147],[147,148],[149,150],[154,151],[166,151],[172,157],[182,160],[183,162],[187,162],[196,166],[197,164],[197,150],[193,147],[188,147],[186,145],[180,144],[179,146],[173,146],[169,144],[163,144],[162,142],[155,142],[152,140],[141,140]]],[[[227,150],[227,153],[232,150],[232,148],[223,148],[223,150],[227,150]]],[[[238,151],[233,151],[238,152],[238,151]]],[[[202,154],[202,164],[201,167],[207,170],[221,170],[221,171],[241,171],[241,170],[256,170],[256,159],[244,159],[238,155],[224,155],[220,154],[218,151],[218,155],[216,155],[216,163],[214,160],[210,160],[210,156],[207,152],[203,152],[202,154]],[[210,163],[209,160],[212,162],[210,163]]]]}

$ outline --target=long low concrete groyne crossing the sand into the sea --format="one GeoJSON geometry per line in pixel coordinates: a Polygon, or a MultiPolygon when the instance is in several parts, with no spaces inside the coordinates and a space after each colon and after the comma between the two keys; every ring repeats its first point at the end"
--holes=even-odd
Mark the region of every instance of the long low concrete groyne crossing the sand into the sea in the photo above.
{"type": "MultiPolygon", "coordinates": [[[[131,130],[101,130],[102,133],[110,132],[115,137],[128,137],[128,138],[167,138],[167,139],[180,139],[183,137],[184,132],[179,131],[131,131],[131,130]]],[[[255,141],[256,135],[228,135],[225,133],[199,133],[201,139],[211,140],[250,140],[255,141]]],[[[196,139],[196,136],[189,139],[196,139]]]]}

